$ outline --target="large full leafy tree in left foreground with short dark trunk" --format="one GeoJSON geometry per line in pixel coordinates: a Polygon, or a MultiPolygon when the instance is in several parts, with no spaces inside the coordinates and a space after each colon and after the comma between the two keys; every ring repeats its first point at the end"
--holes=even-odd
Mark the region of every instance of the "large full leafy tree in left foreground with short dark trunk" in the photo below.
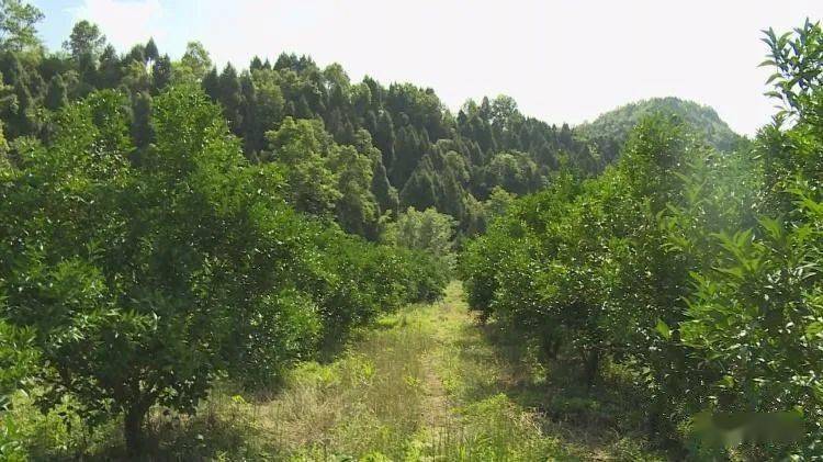
{"type": "Polygon", "coordinates": [[[282,367],[319,314],[281,282],[308,278],[293,239],[311,230],[264,192],[277,177],[245,162],[219,109],[162,94],[133,166],[122,108],[112,93],[68,108],[55,143],[4,173],[0,286],[3,316],[36,328],[44,404],[71,395],[90,422],[122,412],[134,455],[151,405],[192,412],[222,371],[282,367]]]}

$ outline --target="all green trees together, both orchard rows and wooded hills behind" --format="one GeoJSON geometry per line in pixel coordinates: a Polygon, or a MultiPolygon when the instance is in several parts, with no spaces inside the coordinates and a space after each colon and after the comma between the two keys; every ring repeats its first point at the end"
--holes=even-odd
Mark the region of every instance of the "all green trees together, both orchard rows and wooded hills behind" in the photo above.
{"type": "Polygon", "coordinates": [[[747,139],[676,98],[577,127],[505,95],[454,114],[88,21],[49,50],[42,20],[0,1],[0,459],[82,459],[112,426],[138,458],[153,413],[277,391],[458,277],[545,370],[631,383],[669,458],[823,457],[819,24],[767,31],[781,109],[747,139]]]}

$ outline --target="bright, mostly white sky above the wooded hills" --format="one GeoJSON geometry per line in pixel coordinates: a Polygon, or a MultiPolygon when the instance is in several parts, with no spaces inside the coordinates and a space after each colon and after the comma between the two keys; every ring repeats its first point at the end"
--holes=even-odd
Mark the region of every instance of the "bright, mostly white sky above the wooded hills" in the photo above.
{"type": "Polygon", "coordinates": [[[121,50],[154,37],[180,57],[200,41],[215,63],[311,55],[359,81],[431,87],[451,109],[508,94],[525,114],[578,124],[674,95],[754,135],[775,112],[758,68],[769,26],[823,19],[823,0],[32,0],[41,36],[99,24],[121,50]]]}

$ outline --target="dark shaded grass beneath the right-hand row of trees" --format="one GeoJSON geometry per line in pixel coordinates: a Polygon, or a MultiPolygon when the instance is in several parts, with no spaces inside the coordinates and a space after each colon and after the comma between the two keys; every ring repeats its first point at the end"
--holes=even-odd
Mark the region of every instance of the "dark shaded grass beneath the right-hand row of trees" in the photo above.
{"type": "Polygon", "coordinates": [[[495,323],[475,322],[463,329],[455,345],[458,354],[501,371],[494,380],[466,381],[471,384],[464,390],[466,399],[504,393],[535,416],[544,433],[559,435],[596,459],[654,459],[662,457],[657,451],[667,451],[667,459],[684,457],[683,448],[650,440],[647,399],[629,371],[606,363],[598,380],[587,386],[579,361],[560,357],[541,363],[522,338],[495,323]]]}

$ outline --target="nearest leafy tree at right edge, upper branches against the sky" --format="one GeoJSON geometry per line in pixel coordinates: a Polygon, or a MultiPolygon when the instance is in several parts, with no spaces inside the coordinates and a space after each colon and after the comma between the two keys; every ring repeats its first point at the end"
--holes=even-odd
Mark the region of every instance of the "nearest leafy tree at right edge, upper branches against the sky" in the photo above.
{"type": "MultiPolygon", "coordinates": [[[[807,22],[780,37],[766,31],[765,42],[771,48],[766,64],[777,70],[769,79],[775,82],[769,94],[785,105],[757,140],[763,153],[758,184],[763,195],[744,202],[762,214],[695,236],[686,227],[687,218],[695,215],[689,211],[704,205],[692,203],[676,211],[674,219],[681,224],[674,244],[703,260],[692,272],[695,290],[680,331],[683,341],[699,351],[715,373],[710,388],[717,396],[713,409],[792,413],[805,426],[804,440],[788,451],[776,444],[770,453],[814,459],[823,454],[823,395],[815,379],[823,363],[823,120],[819,116],[823,31],[807,22]],[[796,120],[789,127],[782,125],[787,116],[796,120]],[[697,243],[708,243],[711,251],[700,252],[697,243]]],[[[698,188],[712,180],[698,170],[691,184],[698,188]]],[[[711,195],[703,202],[729,207],[728,196],[711,195]]]]}

